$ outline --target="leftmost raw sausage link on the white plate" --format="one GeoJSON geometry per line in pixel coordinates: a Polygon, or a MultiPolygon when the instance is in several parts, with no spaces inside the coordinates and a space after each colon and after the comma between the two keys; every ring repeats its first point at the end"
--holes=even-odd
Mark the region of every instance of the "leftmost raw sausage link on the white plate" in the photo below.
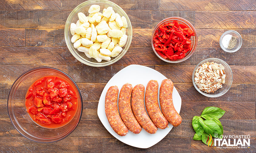
{"type": "Polygon", "coordinates": [[[117,107],[118,87],[111,86],[105,97],[105,113],[108,122],[112,129],[120,136],[125,136],[128,133],[128,128],[122,121],[117,107]]]}

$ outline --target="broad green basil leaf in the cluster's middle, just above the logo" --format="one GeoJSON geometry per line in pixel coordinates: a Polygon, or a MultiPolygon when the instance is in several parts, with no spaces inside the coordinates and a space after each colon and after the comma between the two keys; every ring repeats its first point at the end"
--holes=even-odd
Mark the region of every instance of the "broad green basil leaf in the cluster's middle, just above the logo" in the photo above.
{"type": "Polygon", "coordinates": [[[216,121],[213,120],[204,120],[204,131],[207,134],[211,134],[212,137],[217,134],[218,136],[222,135],[222,131],[220,129],[220,126],[216,123],[216,121]]]}

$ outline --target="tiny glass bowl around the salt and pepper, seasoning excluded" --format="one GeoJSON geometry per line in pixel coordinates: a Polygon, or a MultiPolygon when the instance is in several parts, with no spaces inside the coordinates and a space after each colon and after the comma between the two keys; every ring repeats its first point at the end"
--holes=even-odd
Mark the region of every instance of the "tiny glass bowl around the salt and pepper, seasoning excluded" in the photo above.
{"type": "Polygon", "coordinates": [[[234,30],[228,30],[228,31],[224,32],[224,33],[220,36],[220,47],[221,47],[221,49],[223,49],[225,52],[228,52],[228,53],[234,53],[234,52],[236,52],[237,50],[239,50],[239,49],[241,48],[241,46],[242,46],[242,43],[243,43],[243,39],[242,39],[241,35],[240,35],[238,32],[234,31],[234,30]],[[234,48],[232,48],[232,49],[227,49],[227,48],[225,48],[225,47],[222,45],[222,39],[223,39],[223,37],[226,36],[226,35],[228,35],[228,34],[230,34],[230,35],[236,37],[236,39],[237,39],[237,44],[236,44],[236,46],[235,46],[234,48]]]}

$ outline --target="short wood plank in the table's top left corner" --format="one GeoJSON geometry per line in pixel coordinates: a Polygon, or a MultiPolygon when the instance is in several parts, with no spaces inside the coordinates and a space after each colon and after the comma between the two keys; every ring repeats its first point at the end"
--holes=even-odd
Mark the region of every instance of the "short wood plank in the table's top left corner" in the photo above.
{"type": "Polygon", "coordinates": [[[29,1],[29,0],[5,0],[0,2],[0,10],[60,10],[61,0],[29,1]]]}

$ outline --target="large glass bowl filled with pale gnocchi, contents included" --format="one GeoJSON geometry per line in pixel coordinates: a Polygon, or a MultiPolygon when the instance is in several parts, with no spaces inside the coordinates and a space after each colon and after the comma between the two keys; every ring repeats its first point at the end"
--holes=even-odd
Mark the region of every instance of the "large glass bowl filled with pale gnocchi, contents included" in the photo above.
{"type": "Polygon", "coordinates": [[[132,27],[121,7],[107,0],[89,0],[68,16],[65,41],[70,53],[89,66],[120,60],[131,45],[132,27]]]}

